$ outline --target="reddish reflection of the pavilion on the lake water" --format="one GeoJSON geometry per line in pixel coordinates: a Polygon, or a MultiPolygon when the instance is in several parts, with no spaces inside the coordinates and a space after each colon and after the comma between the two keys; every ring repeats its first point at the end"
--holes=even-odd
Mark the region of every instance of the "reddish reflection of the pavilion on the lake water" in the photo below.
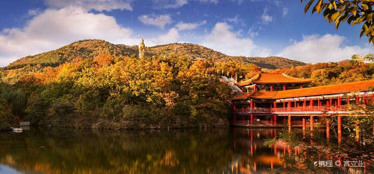
{"type": "Polygon", "coordinates": [[[231,171],[227,173],[267,174],[271,169],[282,167],[282,156],[300,153],[298,147],[292,149],[279,141],[271,148],[263,145],[264,139],[277,139],[277,129],[233,128],[232,131],[235,158],[230,165],[231,171]]]}

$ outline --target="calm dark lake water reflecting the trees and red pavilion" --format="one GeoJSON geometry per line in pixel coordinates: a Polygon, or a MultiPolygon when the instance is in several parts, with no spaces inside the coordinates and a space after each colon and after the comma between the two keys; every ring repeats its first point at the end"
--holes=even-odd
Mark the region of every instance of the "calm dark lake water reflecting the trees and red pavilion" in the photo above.
{"type": "MultiPolygon", "coordinates": [[[[0,173],[268,173],[286,152],[262,145],[279,129],[0,132],[0,173]]],[[[288,151],[288,150],[287,150],[288,151]]]]}

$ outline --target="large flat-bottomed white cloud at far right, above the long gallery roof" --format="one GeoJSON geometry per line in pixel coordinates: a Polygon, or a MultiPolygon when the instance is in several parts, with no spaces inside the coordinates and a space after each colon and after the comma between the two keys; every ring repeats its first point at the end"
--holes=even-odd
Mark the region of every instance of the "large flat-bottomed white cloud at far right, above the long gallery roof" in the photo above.
{"type": "Polygon", "coordinates": [[[303,36],[300,42],[292,40],[294,43],[278,53],[278,56],[307,63],[336,62],[350,59],[354,54],[365,55],[374,51],[373,47],[347,46],[346,41],[347,38],[332,34],[303,36]]]}

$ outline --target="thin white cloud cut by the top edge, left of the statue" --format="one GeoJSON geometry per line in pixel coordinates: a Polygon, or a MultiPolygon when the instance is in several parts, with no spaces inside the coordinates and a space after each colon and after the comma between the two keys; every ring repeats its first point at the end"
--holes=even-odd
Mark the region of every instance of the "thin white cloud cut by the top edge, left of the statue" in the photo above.
{"type": "Polygon", "coordinates": [[[81,7],[86,10],[111,11],[113,9],[132,10],[130,0],[45,0],[49,7],[81,7]]]}

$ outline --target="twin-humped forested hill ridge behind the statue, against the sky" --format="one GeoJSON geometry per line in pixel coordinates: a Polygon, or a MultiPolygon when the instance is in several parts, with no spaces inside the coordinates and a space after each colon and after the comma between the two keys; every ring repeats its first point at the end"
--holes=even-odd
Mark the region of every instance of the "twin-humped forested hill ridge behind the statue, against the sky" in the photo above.
{"type": "MultiPolygon", "coordinates": [[[[228,56],[218,51],[196,45],[196,44],[167,44],[146,49],[147,56],[171,54],[175,56],[183,55],[186,58],[204,58],[212,61],[226,62],[230,60],[238,60],[240,62],[253,63],[261,68],[277,69],[277,68],[291,68],[305,63],[295,60],[286,59],[283,57],[244,57],[244,56],[228,56]]],[[[111,54],[113,56],[131,56],[138,54],[137,46],[127,46],[122,44],[111,44],[104,40],[82,40],[63,46],[59,49],[49,51],[46,53],[37,54],[34,56],[27,56],[21,58],[9,66],[4,67],[5,70],[22,68],[27,65],[58,66],[65,62],[70,62],[76,57],[82,59],[93,58],[99,54],[111,54]]]]}

